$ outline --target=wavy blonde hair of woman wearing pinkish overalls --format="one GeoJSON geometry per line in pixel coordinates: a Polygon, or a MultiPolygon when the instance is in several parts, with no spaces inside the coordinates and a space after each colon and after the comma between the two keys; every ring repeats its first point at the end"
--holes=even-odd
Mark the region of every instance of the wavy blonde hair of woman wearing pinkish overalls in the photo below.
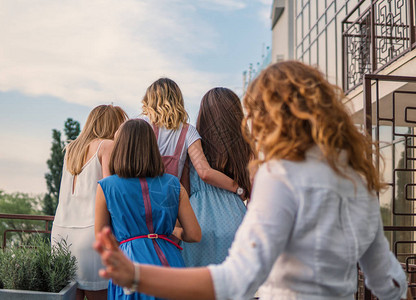
{"type": "Polygon", "coordinates": [[[166,129],[178,129],[181,123],[188,121],[182,92],[169,78],[160,78],[147,88],[142,110],[150,122],[166,129]]]}

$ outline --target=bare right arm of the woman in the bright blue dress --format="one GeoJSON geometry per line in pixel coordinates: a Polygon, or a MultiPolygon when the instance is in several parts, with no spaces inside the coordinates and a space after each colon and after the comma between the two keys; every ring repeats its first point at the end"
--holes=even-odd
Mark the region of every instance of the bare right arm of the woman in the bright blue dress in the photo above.
{"type": "Polygon", "coordinates": [[[188,194],[182,185],[179,193],[178,220],[182,228],[175,227],[174,234],[176,236],[188,243],[201,240],[201,227],[189,202],[188,194]]]}

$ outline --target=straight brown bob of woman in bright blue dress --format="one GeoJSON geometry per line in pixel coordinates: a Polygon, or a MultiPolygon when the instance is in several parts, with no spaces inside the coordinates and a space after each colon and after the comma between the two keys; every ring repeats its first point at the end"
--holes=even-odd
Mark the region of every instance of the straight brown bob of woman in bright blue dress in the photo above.
{"type": "Polygon", "coordinates": [[[126,121],[116,134],[110,173],[120,177],[157,177],[164,166],[152,127],[141,119],[126,121]]]}

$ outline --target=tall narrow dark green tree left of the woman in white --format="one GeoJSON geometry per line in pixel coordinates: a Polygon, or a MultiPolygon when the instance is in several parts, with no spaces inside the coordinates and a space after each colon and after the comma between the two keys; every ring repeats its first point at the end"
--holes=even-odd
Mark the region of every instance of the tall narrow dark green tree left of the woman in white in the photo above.
{"type": "Polygon", "coordinates": [[[42,210],[46,215],[55,215],[58,206],[59,189],[61,186],[62,167],[65,157],[65,146],[75,140],[80,133],[80,124],[71,118],[65,121],[64,133],[66,140],[62,140],[59,130],[52,129],[51,156],[47,160],[49,172],[45,174],[48,193],[43,198],[42,210]]]}

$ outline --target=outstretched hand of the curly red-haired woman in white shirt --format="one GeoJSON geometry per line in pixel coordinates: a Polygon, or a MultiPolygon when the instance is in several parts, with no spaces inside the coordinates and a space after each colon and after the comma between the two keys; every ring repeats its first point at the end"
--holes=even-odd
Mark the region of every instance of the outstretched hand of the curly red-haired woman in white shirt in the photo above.
{"type": "Polygon", "coordinates": [[[98,274],[112,279],[117,285],[131,287],[134,279],[134,265],[118,248],[118,243],[109,227],[104,227],[98,234],[94,249],[101,255],[106,266],[98,274]]]}

